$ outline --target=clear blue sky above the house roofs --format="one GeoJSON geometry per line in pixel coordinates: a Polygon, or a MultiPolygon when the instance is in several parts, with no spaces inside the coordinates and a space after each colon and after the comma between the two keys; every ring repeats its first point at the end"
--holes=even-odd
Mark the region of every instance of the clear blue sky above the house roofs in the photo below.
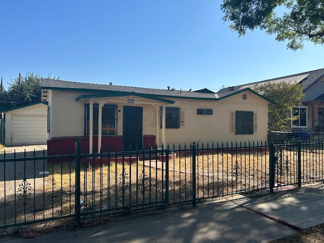
{"type": "Polygon", "coordinates": [[[182,90],[324,68],[323,46],[293,52],[261,31],[238,37],[221,1],[0,0],[0,76],[182,90]]]}

